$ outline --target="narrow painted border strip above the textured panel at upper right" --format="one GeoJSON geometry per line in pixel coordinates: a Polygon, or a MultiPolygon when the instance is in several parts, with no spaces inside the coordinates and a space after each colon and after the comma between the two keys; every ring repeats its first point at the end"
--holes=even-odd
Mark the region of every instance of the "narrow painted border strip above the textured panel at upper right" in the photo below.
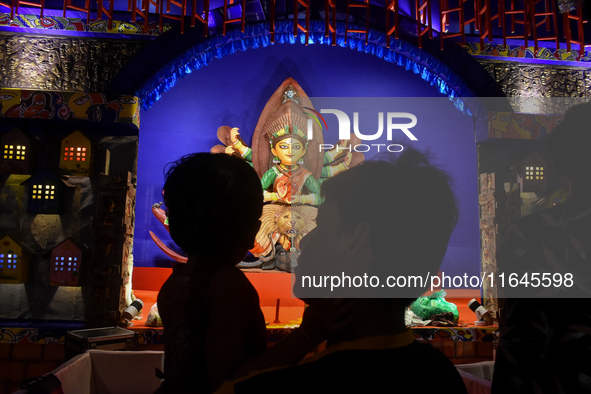
{"type": "Polygon", "coordinates": [[[555,61],[570,61],[570,62],[591,62],[591,52],[575,50],[579,45],[573,45],[570,51],[566,49],[551,49],[538,48],[536,52],[533,46],[524,45],[503,45],[495,43],[484,43],[481,47],[479,42],[467,42],[463,45],[464,49],[472,56],[493,56],[493,57],[509,57],[518,59],[538,59],[538,60],[555,60],[555,61]]]}

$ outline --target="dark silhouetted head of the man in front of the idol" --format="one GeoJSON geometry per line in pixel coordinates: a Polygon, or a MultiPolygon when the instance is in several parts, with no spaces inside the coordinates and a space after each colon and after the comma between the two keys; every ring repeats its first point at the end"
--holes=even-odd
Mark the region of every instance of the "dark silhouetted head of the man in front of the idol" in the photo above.
{"type": "Polygon", "coordinates": [[[301,243],[303,271],[376,274],[382,284],[388,275],[437,274],[458,208],[448,175],[425,156],[406,150],[396,161],[362,163],[323,183],[322,194],[318,226],[301,243]]]}

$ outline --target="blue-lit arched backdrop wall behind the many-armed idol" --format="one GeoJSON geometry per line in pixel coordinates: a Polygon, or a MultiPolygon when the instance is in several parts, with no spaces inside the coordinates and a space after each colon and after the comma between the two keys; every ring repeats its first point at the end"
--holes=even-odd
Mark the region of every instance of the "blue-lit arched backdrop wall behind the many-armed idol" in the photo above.
{"type": "MultiPolygon", "coordinates": [[[[453,177],[461,209],[443,270],[477,275],[478,177],[471,116],[420,75],[403,67],[349,49],[300,44],[277,44],[215,59],[179,80],[153,107],[142,112],[135,265],[170,267],[173,263],[153,242],[150,231],[166,246],[179,251],[152,213],[153,204],[162,201],[166,165],[185,154],[226,145],[218,138],[220,128],[225,133],[238,128],[245,145],[257,144],[253,137],[263,109],[287,78],[293,78],[312,98],[305,111],[322,134],[324,149],[338,145],[340,124],[334,113],[321,110],[340,109],[351,120],[351,133],[355,136],[357,125],[359,134],[365,136],[351,139],[356,141],[352,152],[363,160],[379,154],[395,155],[406,147],[431,153],[433,161],[453,177]],[[385,97],[415,99],[377,99],[385,97]],[[358,112],[357,124],[354,112],[358,112]],[[389,112],[412,116],[389,118],[389,112]],[[411,126],[415,119],[416,124],[411,126]],[[378,135],[380,122],[383,130],[378,135]],[[408,132],[402,130],[404,127],[390,127],[393,124],[407,125],[408,132]]],[[[231,138],[231,134],[226,135],[231,138]]]]}

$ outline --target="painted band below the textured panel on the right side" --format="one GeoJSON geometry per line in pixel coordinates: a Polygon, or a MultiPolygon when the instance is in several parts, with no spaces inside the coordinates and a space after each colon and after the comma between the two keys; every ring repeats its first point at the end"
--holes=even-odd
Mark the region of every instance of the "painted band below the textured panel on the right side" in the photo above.
{"type": "Polygon", "coordinates": [[[541,140],[544,139],[562,119],[562,115],[489,112],[488,137],[541,140]]]}

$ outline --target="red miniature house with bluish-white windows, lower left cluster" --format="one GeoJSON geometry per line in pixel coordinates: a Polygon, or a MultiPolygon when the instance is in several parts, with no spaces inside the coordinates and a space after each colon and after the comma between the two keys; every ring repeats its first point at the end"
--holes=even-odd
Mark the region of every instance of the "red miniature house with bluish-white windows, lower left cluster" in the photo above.
{"type": "Polygon", "coordinates": [[[51,251],[49,284],[78,286],[82,251],[69,239],[51,251]]]}

